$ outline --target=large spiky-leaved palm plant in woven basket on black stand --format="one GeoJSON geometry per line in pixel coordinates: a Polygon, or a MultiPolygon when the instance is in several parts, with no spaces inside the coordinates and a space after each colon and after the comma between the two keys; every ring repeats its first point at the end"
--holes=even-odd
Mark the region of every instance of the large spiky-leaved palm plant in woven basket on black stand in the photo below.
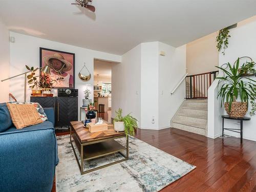
{"type": "Polygon", "coordinates": [[[218,82],[218,97],[222,98],[221,106],[224,103],[225,110],[230,117],[244,117],[248,109],[248,100],[255,100],[255,82],[253,79],[243,77],[242,70],[239,69],[239,58],[234,63],[233,67],[228,63],[229,70],[217,67],[223,71],[224,77],[217,77],[218,82]],[[244,80],[248,81],[244,81],[244,80]]]}

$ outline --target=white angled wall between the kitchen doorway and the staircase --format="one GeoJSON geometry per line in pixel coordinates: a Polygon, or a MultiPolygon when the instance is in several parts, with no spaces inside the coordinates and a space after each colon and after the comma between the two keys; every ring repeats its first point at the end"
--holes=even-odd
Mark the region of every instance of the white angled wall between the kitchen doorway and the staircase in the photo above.
{"type": "Polygon", "coordinates": [[[112,67],[112,101],[118,100],[112,104],[112,117],[120,107],[124,115],[133,112],[141,129],[170,127],[184,100],[185,82],[173,96],[170,92],[185,75],[185,68],[186,46],[145,42],[122,55],[122,62],[112,67]],[[160,51],[166,56],[159,56],[160,51]]]}

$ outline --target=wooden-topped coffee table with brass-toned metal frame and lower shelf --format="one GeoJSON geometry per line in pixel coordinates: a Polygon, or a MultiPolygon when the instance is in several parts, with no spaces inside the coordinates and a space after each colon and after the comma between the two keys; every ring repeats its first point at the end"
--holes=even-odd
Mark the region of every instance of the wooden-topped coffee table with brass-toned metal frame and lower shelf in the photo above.
{"type": "Polygon", "coordinates": [[[81,175],[129,159],[129,137],[126,136],[124,132],[115,132],[113,124],[108,123],[108,131],[95,133],[89,132],[89,129],[84,127],[81,121],[72,121],[70,124],[70,143],[80,168],[81,175]],[[114,140],[122,137],[126,137],[126,147],[114,140]],[[81,157],[80,162],[75,152],[73,143],[75,143],[78,148],[81,157]],[[126,150],[126,155],[121,153],[121,151],[124,150],[126,150]],[[114,153],[121,154],[124,159],[83,171],[83,161],[111,155],[114,153]]]}

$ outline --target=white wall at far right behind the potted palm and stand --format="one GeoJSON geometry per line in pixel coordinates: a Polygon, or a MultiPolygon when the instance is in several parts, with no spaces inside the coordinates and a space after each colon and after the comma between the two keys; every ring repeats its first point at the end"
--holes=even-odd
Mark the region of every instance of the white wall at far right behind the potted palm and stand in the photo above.
{"type": "MultiPolygon", "coordinates": [[[[219,53],[219,66],[223,63],[230,62],[233,65],[234,61],[238,57],[249,56],[254,61],[256,60],[256,16],[244,20],[238,23],[238,27],[230,30],[231,37],[229,38],[229,45],[225,51],[225,56],[219,53]]],[[[243,63],[241,63],[242,65],[243,63]]],[[[252,79],[256,79],[252,77],[252,79]]],[[[212,93],[208,92],[208,137],[216,138],[222,133],[222,119],[220,115],[224,114],[224,109],[221,108],[220,101],[216,99],[217,93],[217,79],[215,83],[212,83],[212,88],[209,91],[215,93],[215,97],[210,97],[212,93]],[[214,111],[213,111],[214,110],[214,111]],[[210,112],[210,113],[209,113],[210,112]],[[215,124],[212,124],[215,122],[215,124]]],[[[249,104],[249,109],[246,116],[249,116],[251,106],[249,104]]],[[[226,113],[225,113],[226,114],[226,113]]],[[[250,121],[244,121],[243,138],[256,141],[256,115],[251,117],[250,121]]],[[[225,127],[239,129],[240,124],[238,121],[225,120],[225,127]]],[[[230,131],[225,131],[225,134],[240,137],[239,134],[230,131]]]]}

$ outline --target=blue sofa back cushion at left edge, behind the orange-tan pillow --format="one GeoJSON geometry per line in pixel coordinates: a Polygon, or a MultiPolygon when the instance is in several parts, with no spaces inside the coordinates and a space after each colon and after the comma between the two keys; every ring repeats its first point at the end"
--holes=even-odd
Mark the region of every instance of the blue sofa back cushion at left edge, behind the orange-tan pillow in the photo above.
{"type": "Polygon", "coordinates": [[[0,133],[11,126],[13,126],[13,123],[6,103],[0,104],[0,133]]]}

